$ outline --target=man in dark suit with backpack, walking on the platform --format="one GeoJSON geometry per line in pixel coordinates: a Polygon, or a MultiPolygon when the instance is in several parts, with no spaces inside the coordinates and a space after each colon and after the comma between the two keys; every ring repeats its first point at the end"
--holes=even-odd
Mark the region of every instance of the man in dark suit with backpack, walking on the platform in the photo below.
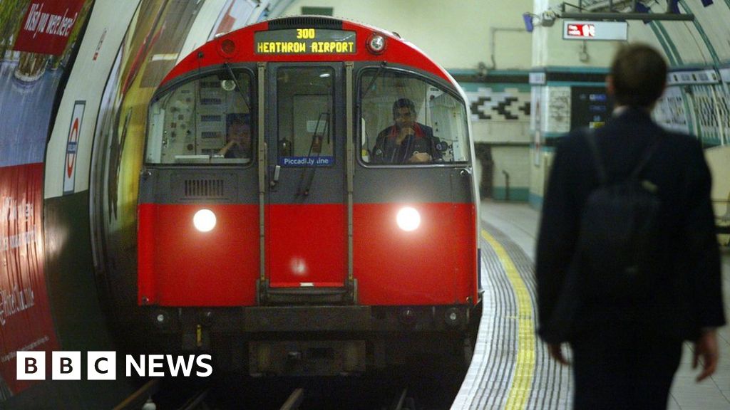
{"type": "Polygon", "coordinates": [[[567,364],[575,409],[666,409],[684,340],[697,380],[718,364],[721,268],[700,142],[651,109],[666,62],[652,47],[615,55],[611,120],[558,143],[537,243],[539,336],[567,364]]]}

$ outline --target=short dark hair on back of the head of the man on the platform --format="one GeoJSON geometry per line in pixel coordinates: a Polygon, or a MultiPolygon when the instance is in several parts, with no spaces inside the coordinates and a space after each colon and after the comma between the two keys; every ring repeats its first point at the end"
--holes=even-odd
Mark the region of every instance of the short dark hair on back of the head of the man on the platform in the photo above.
{"type": "Polygon", "coordinates": [[[650,107],[664,92],[666,71],[664,57],[653,47],[640,43],[621,47],[611,63],[616,102],[650,107]]]}

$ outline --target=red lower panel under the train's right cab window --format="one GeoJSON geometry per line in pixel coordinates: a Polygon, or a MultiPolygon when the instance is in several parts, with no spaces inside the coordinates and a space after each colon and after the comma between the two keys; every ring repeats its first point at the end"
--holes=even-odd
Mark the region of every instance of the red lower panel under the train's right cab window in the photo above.
{"type": "Polygon", "coordinates": [[[354,269],[364,305],[427,305],[476,300],[474,204],[410,205],[421,224],[401,230],[404,204],[356,204],[354,269]]]}

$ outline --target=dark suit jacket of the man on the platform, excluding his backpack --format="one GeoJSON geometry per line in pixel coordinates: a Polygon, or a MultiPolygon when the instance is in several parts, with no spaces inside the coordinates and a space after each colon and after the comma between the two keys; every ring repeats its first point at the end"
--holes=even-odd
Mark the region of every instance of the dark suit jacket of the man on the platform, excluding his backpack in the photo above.
{"type": "MultiPolygon", "coordinates": [[[[595,326],[639,322],[661,335],[694,340],[704,327],[725,323],[715,220],[710,203],[711,177],[702,147],[694,137],[665,131],[647,112],[629,108],[595,131],[609,183],[626,179],[649,144],[658,141],[642,178],[658,186],[664,255],[657,263],[661,280],[640,306],[612,306],[580,300],[575,337],[595,326]]],[[[588,193],[599,185],[583,131],[558,143],[542,209],[537,243],[538,333],[556,342],[556,302],[575,252],[580,214],[588,193]]]]}

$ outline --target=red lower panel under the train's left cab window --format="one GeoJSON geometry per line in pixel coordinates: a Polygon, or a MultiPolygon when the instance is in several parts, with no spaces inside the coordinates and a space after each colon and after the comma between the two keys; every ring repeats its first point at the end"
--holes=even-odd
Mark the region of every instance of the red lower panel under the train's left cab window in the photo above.
{"type": "Polygon", "coordinates": [[[160,306],[250,306],[258,278],[258,205],[139,205],[139,296],[160,306]],[[193,226],[206,208],[217,223],[193,226]]]}

